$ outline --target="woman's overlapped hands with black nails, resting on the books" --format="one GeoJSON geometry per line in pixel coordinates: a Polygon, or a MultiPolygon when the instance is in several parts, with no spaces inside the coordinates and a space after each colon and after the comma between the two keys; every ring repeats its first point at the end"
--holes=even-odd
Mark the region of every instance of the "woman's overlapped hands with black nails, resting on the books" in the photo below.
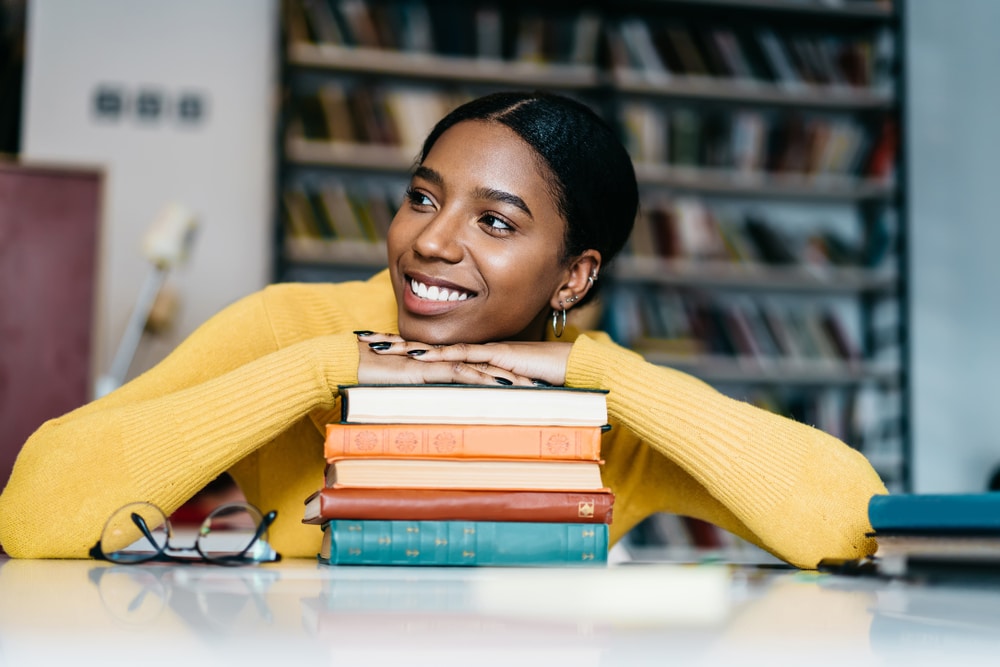
{"type": "Polygon", "coordinates": [[[362,383],[562,385],[571,343],[428,345],[394,334],[358,334],[362,383]]]}

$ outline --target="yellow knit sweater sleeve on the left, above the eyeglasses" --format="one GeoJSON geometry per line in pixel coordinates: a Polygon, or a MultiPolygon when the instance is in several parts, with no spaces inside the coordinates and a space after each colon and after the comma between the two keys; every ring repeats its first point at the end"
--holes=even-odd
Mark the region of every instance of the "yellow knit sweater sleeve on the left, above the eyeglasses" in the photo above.
{"type": "MultiPolygon", "coordinates": [[[[224,309],[151,371],[25,443],[0,495],[15,557],[86,557],[117,508],[168,514],[357,379],[356,337],[280,346],[266,291],[224,309]]],[[[279,321],[280,325],[280,321],[279,321]]]]}

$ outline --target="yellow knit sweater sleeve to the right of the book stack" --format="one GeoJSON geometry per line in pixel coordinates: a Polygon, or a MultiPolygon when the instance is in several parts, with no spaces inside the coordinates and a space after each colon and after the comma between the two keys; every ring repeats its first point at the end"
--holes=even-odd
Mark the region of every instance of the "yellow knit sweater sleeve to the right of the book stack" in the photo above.
{"type": "Polygon", "coordinates": [[[623,528],[658,511],[704,518],[803,568],[874,551],[868,500],[886,489],[868,460],[837,438],[650,364],[606,337],[577,338],[567,384],[609,392],[617,429],[605,472],[625,505],[615,512],[623,528]]]}

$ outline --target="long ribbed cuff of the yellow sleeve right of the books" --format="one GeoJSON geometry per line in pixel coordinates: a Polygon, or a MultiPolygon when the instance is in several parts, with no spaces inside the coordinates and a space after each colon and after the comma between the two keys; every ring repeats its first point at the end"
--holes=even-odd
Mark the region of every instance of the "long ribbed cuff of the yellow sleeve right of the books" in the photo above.
{"type": "Polygon", "coordinates": [[[612,419],[678,463],[723,504],[739,508],[745,521],[781,503],[813,446],[832,440],[729,398],[686,373],[586,336],[573,346],[566,377],[572,386],[607,389],[612,419]]]}

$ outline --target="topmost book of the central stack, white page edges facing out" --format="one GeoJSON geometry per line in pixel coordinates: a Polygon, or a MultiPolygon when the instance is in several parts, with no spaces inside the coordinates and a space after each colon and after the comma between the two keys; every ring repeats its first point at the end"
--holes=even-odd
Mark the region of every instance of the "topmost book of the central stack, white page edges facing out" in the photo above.
{"type": "Polygon", "coordinates": [[[604,426],[607,392],[571,387],[343,385],[344,423],[604,426]]]}

